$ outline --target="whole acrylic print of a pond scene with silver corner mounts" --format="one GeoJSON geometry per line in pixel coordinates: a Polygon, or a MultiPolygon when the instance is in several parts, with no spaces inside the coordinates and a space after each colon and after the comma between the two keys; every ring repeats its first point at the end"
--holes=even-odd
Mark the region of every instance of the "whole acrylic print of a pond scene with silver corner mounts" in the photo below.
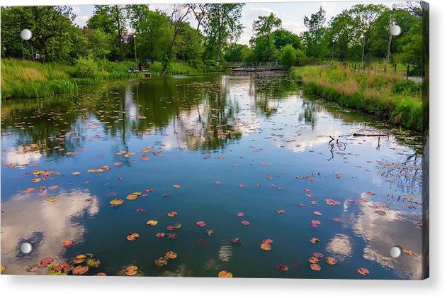
{"type": "Polygon", "coordinates": [[[1,273],[428,277],[428,4],[327,5],[2,7],[1,273]]]}

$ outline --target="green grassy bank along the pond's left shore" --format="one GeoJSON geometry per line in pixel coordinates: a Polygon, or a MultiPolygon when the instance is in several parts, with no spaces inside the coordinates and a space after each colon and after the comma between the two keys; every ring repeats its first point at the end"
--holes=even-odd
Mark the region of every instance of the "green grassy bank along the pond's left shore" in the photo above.
{"type": "MultiPolygon", "coordinates": [[[[144,77],[142,73],[128,73],[135,62],[110,62],[80,58],[74,65],[62,62],[38,63],[16,59],[1,59],[1,99],[35,98],[52,94],[76,94],[79,85],[98,84],[104,79],[128,79],[144,77]]],[[[154,62],[145,67],[151,75],[161,75],[162,64],[154,62]]],[[[190,65],[171,62],[167,75],[217,72],[221,68],[212,65],[190,65]]]]}

